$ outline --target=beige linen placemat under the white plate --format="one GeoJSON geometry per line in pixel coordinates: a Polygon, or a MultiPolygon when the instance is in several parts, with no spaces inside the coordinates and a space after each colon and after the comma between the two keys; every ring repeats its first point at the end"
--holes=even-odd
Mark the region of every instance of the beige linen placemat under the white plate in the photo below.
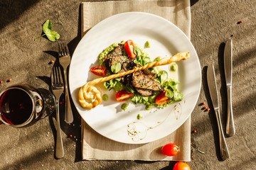
{"type": "MultiPolygon", "coordinates": [[[[128,11],[140,11],[166,18],[181,28],[190,38],[189,0],[85,2],[81,5],[81,11],[82,35],[109,16],[128,11]]],[[[171,135],[144,145],[128,145],[107,139],[82,120],[82,159],[189,162],[191,161],[191,117],[171,135]],[[161,154],[161,147],[170,142],[181,146],[181,152],[174,157],[161,154]]]]}

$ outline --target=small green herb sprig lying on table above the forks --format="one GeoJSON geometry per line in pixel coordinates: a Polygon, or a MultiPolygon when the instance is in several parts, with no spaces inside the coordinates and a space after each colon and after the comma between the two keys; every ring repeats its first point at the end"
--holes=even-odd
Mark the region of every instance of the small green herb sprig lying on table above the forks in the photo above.
{"type": "Polygon", "coordinates": [[[46,37],[50,41],[58,40],[60,38],[60,35],[52,29],[53,29],[53,24],[50,22],[50,20],[47,20],[45,23],[43,23],[43,33],[44,34],[39,36],[38,38],[36,38],[35,41],[38,40],[39,38],[43,37],[44,35],[46,35],[46,37]]]}

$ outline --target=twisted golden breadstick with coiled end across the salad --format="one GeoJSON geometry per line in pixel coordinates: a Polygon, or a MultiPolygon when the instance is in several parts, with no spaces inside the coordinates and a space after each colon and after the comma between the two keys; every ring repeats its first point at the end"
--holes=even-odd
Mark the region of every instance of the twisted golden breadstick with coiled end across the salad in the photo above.
{"type": "Polygon", "coordinates": [[[95,108],[102,101],[102,98],[100,96],[100,91],[98,91],[97,88],[94,87],[95,84],[100,84],[100,83],[108,81],[110,79],[123,77],[127,74],[132,74],[133,72],[137,72],[142,69],[149,69],[151,67],[171,64],[172,62],[187,60],[188,58],[189,58],[189,52],[179,52],[176,55],[174,55],[173,57],[164,57],[163,59],[161,59],[157,62],[151,62],[150,64],[146,64],[142,67],[137,67],[136,69],[128,70],[127,72],[122,72],[119,74],[112,74],[108,77],[102,77],[102,78],[98,78],[98,79],[89,81],[89,82],[87,82],[87,84],[85,84],[84,86],[82,86],[80,88],[80,91],[78,94],[79,102],[83,108],[95,108]],[[86,99],[90,100],[90,101],[87,102],[86,99]]]}

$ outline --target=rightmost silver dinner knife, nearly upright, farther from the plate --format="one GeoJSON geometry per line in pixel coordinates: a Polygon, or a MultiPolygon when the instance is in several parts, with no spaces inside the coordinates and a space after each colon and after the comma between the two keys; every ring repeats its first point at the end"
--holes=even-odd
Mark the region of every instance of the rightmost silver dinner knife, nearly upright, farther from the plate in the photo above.
{"type": "Polygon", "coordinates": [[[228,39],[225,44],[224,50],[224,69],[225,69],[225,81],[227,85],[227,94],[228,94],[228,111],[227,111],[227,125],[226,125],[226,134],[228,136],[235,135],[235,125],[233,119],[232,111],[232,57],[233,57],[233,45],[232,39],[228,39]]]}

